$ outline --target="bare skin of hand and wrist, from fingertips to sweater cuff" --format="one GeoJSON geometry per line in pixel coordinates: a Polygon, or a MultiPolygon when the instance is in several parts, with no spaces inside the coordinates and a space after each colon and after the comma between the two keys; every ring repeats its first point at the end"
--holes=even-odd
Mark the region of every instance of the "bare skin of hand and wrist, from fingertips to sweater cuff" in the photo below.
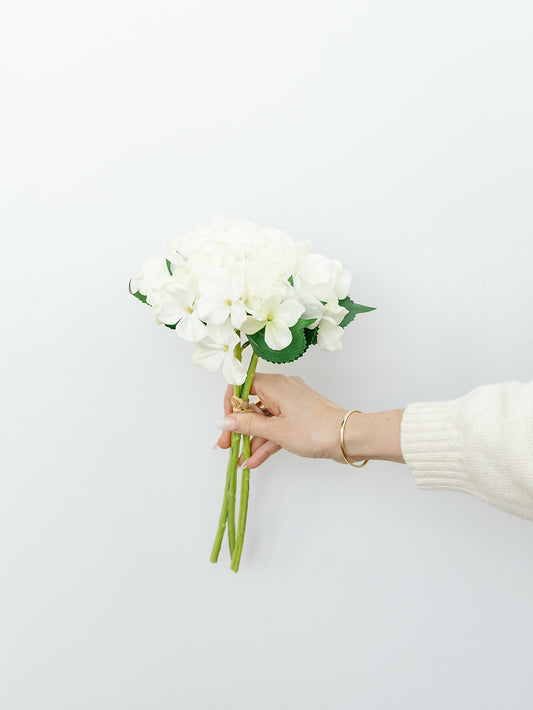
{"type": "MultiPolygon", "coordinates": [[[[221,449],[229,448],[231,431],[237,431],[252,437],[248,468],[257,468],[280,449],[346,463],[340,449],[340,426],[347,409],[322,397],[296,376],[256,373],[250,393],[257,395],[273,416],[232,413],[233,387],[228,386],[224,419],[218,425],[224,429],[217,441],[221,449]]],[[[348,459],[405,463],[400,445],[402,415],[403,409],[351,414],[344,430],[348,459]]]]}

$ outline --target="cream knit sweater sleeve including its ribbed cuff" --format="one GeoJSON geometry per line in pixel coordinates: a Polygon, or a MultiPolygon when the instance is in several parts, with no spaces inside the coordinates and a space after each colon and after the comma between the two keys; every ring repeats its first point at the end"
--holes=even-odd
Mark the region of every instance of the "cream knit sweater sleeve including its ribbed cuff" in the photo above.
{"type": "Polygon", "coordinates": [[[401,448],[419,488],[465,491],[533,520],[533,381],[409,404],[401,448]]]}

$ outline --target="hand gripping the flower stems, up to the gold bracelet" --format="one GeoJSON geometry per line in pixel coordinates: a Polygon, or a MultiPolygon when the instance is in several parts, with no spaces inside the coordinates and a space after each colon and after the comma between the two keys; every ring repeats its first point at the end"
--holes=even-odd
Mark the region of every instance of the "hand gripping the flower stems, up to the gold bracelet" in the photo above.
{"type": "Polygon", "coordinates": [[[281,448],[299,456],[343,462],[339,429],[346,409],[295,376],[256,373],[250,394],[257,395],[272,416],[233,413],[233,387],[229,385],[224,397],[225,419],[220,424],[225,431],[217,442],[220,448],[229,448],[231,431],[236,431],[252,437],[248,468],[256,468],[281,448]]]}

